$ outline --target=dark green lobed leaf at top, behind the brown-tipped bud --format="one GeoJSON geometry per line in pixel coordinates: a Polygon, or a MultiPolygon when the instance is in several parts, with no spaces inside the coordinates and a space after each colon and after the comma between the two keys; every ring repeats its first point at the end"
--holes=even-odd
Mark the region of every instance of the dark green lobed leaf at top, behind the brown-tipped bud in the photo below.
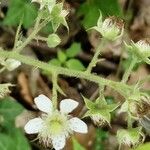
{"type": "Polygon", "coordinates": [[[118,0],[91,0],[81,4],[78,14],[84,17],[82,23],[86,29],[96,25],[99,18],[99,10],[103,16],[122,16],[118,0]]]}

